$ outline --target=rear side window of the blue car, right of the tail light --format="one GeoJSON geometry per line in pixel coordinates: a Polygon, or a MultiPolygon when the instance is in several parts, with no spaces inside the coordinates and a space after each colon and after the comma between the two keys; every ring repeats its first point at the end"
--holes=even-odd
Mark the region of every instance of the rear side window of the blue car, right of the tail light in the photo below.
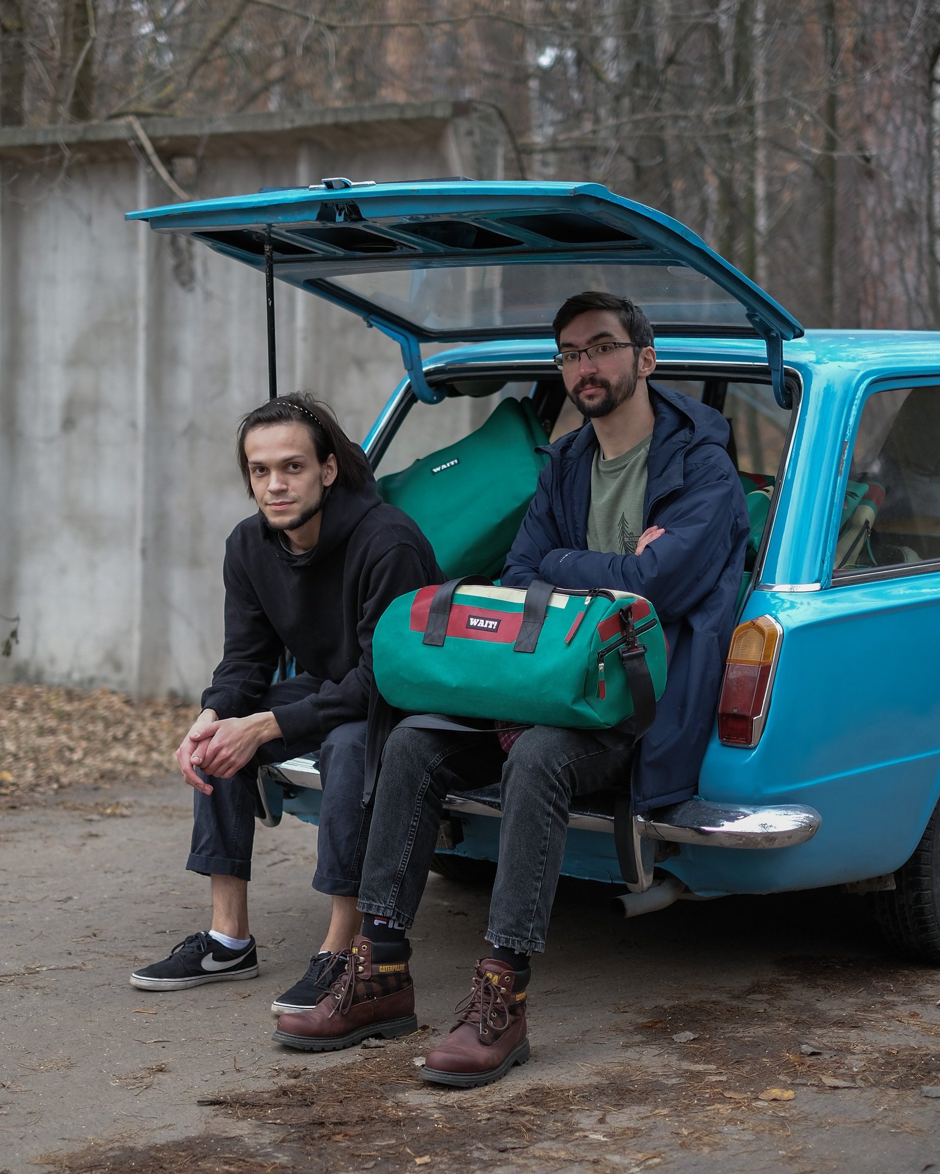
{"type": "Polygon", "coordinates": [[[871,394],[852,450],[833,578],[940,560],[940,385],[871,394]]]}

